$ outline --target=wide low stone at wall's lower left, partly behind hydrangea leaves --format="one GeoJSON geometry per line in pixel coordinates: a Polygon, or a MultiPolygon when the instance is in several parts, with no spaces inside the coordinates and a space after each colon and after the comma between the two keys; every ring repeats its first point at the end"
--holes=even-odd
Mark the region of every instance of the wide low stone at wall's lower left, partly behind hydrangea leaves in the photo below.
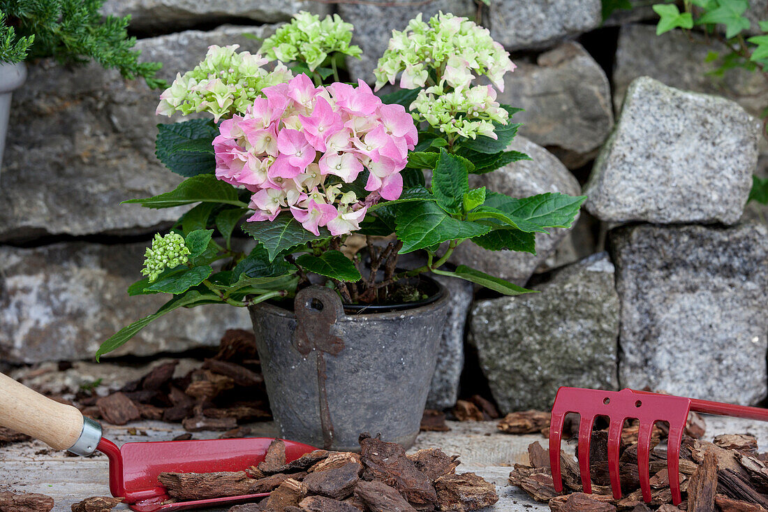
{"type": "MultiPolygon", "coordinates": [[[[167,294],[129,297],[146,244],[84,242],[0,247],[0,359],[16,363],[91,359],[101,342],[154,313],[167,294]]],[[[230,328],[250,329],[245,308],[173,311],[108,357],[215,346],[230,328]]]]}

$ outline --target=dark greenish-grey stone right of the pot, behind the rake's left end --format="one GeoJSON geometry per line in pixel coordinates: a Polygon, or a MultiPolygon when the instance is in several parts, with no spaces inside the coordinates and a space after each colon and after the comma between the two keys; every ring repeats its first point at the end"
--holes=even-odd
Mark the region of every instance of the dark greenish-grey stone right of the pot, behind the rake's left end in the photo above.
{"type": "Polygon", "coordinates": [[[560,386],[616,389],[619,300],[606,253],[563,268],[541,294],[478,301],[469,341],[502,413],[547,410],[560,386]]]}

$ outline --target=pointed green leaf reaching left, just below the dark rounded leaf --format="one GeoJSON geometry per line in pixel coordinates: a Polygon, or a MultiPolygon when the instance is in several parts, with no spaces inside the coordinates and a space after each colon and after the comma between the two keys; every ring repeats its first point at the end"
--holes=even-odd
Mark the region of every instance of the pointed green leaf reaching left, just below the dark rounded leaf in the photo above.
{"type": "Polygon", "coordinates": [[[248,205],[237,199],[237,188],[214,175],[197,175],[182,181],[173,191],[152,198],[130,199],[124,204],[141,204],[146,208],[173,208],[192,203],[224,203],[240,208],[248,205]]]}

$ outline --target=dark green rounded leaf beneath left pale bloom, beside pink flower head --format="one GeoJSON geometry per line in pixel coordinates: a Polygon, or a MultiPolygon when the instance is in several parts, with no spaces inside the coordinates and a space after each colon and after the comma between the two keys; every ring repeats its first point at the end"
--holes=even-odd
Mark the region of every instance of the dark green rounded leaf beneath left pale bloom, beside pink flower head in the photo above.
{"type": "Polygon", "coordinates": [[[216,169],[212,142],[218,128],[207,119],[157,125],[155,155],[177,175],[186,178],[216,169]]]}

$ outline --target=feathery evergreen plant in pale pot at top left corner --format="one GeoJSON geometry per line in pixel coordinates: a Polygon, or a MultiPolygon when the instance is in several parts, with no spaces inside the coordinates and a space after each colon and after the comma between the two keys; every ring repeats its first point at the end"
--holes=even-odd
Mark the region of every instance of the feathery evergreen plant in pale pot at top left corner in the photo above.
{"type": "Polygon", "coordinates": [[[127,36],[130,16],[101,15],[104,0],[0,1],[0,161],[8,129],[11,95],[24,84],[25,61],[54,57],[61,64],[94,60],[117,68],[129,80],[144,78],[151,88],[167,87],[154,78],[158,62],[138,62],[132,50],[136,38],[127,36]]]}

